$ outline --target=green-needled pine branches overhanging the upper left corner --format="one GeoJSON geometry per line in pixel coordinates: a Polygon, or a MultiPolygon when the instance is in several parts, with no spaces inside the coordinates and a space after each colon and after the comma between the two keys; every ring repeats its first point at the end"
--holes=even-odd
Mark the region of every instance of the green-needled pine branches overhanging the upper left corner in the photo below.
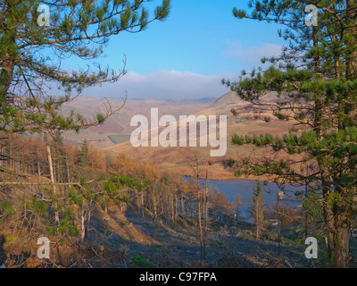
{"type": "Polygon", "coordinates": [[[137,33],[170,13],[163,0],[150,15],[146,0],[0,1],[0,130],[43,132],[75,130],[102,124],[120,110],[104,103],[93,119],[61,107],[87,87],[115,82],[125,71],[95,63],[104,45],[121,32],[137,33]],[[50,25],[40,27],[37,8],[50,8],[50,25]],[[53,56],[54,55],[54,56],[53,56]],[[85,68],[64,70],[63,59],[75,56],[85,68]],[[50,86],[52,90],[48,90],[50,86]],[[54,88],[58,88],[55,93],[54,88]]]}

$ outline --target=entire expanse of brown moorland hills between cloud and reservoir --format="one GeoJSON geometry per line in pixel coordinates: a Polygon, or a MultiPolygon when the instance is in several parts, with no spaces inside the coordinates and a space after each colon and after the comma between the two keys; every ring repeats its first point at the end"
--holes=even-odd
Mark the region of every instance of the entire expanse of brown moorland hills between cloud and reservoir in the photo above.
{"type": "MultiPolygon", "coordinates": [[[[270,93],[263,99],[264,102],[276,100],[276,93],[270,93]]],[[[83,98],[79,97],[71,104],[65,106],[64,111],[68,112],[74,109],[82,114],[93,114],[95,106],[100,106],[103,103],[103,98],[83,98]]],[[[112,104],[121,105],[121,99],[110,98],[112,104]]],[[[103,149],[105,153],[113,156],[120,153],[128,154],[138,161],[158,167],[162,170],[170,170],[177,172],[180,175],[192,175],[191,170],[187,167],[187,157],[199,154],[199,156],[210,159],[212,164],[210,167],[209,179],[212,180],[228,180],[236,179],[234,172],[227,168],[226,165],[220,164],[222,161],[229,158],[237,157],[237,154],[245,156],[252,154],[251,147],[234,146],[230,142],[231,136],[235,132],[252,135],[254,133],[263,134],[270,132],[273,135],[282,135],[289,130],[294,122],[281,122],[271,112],[259,114],[259,118],[248,109],[245,109],[247,103],[237,97],[235,92],[229,91],[227,94],[218,99],[203,98],[201,100],[128,100],[126,105],[120,110],[120,113],[114,114],[112,118],[103,125],[91,127],[88,130],[83,130],[79,134],[75,132],[67,132],[64,138],[73,144],[81,144],[84,139],[89,145],[103,149]],[[171,114],[179,120],[179,115],[195,116],[204,115],[227,115],[228,117],[228,149],[223,157],[211,157],[210,150],[212,147],[199,147],[200,134],[197,130],[197,147],[133,147],[129,140],[130,134],[136,127],[130,127],[130,120],[137,114],[143,114],[150,119],[150,108],[159,109],[159,117],[163,114],[171,114]],[[231,110],[237,109],[237,114],[234,116],[231,110]],[[270,117],[270,122],[262,121],[262,118],[270,117]],[[135,151],[135,152],[134,152],[135,151]]],[[[161,130],[164,127],[161,128],[161,130]]],[[[179,134],[179,130],[178,130],[179,134]]],[[[187,128],[187,139],[189,138],[189,130],[187,128]]],[[[149,143],[149,146],[151,144],[149,143]]],[[[264,156],[269,156],[264,153],[264,156]]],[[[285,156],[285,155],[283,155],[285,156]]],[[[250,176],[249,179],[257,179],[250,176]]],[[[265,178],[264,178],[265,179],[265,178]]]]}

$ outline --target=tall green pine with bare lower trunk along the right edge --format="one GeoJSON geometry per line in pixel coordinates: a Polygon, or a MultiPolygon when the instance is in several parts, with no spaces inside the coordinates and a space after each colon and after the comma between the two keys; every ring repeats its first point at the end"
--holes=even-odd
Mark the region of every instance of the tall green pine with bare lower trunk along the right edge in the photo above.
{"type": "MultiPolygon", "coordinates": [[[[276,180],[318,186],[321,191],[311,199],[322,199],[330,265],[345,267],[351,223],[357,214],[351,207],[357,184],[357,4],[354,0],[253,0],[249,7],[251,13],[237,9],[233,13],[238,19],[285,25],[278,35],[287,45],[281,55],[262,59],[271,63],[269,68],[242,71],[240,80],[227,86],[256,106],[255,114],[268,108],[278,120],[292,121],[294,126],[275,139],[256,134],[252,142],[245,140],[285,152],[286,159],[244,159],[236,164],[236,173],[270,174],[276,180]],[[319,11],[316,27],[305,24],[309,4],[319,11]],[[277,91],[278,100],[262,104],[266,91],[277,91]]],[[[235,139],[234,143],[242,143],[240,136],[235,139]]]]}

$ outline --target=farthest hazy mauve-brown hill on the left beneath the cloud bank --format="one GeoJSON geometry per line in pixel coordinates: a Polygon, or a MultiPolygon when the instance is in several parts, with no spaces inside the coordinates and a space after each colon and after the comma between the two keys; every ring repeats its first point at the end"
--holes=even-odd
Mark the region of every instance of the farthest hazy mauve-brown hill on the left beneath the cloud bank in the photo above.
{"type": "MultiPolygon", "coordinates": [[[[108,97],[113,108],[122,105],[120,98],[108,97]]],[[[114,142],[129,139],[129,135],[135,128],[130,127],[130,120],[137,114],[150,115],[151,108],[158,108],[159,115],[172,114],[174,116],[195,114],[211,104],[217,98],[206,97],[201,99],[128,99],[126,105],[118,114],[112,115],[103,125],[81,130],[79,134],[66,132],[65,139],[73,144],[80,144],[87,139],[89,144],[98,148],[111,147],[114,142]]],[[[103,108],[104,97],[78,97],[70,104],[63,106],[64,114],[75,110],[87,118],[93,118],[98,108],[103,108]]]]}

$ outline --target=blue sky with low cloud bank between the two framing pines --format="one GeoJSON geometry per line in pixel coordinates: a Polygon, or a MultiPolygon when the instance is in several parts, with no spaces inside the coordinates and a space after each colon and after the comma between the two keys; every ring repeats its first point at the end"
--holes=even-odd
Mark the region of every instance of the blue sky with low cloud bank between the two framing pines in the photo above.
{"type": "MultiPolygon", "coordinates": [[[[84,95],[129,98],[220,97],[228,91],[222,78],[234,80],[243,69],[260,64],[262,56],[278,55],[278,25],[237,20],[233,7],[245,0],[171,0],[166,21],[154,21],[136,34],[111,38],[100,63],[127,71],[119,82],[88,88],[84,95]]],[[[160,4],[154,0],[148,5],[160,4]]],[[[74,66],[75,67],[75,66],[74,66]]]]}

